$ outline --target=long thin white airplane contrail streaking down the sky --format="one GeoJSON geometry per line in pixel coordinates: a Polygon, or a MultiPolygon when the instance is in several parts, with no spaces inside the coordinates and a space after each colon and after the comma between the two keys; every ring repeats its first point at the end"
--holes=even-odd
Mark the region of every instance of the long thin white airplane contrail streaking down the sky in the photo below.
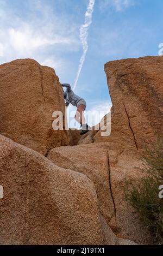
{"type": "Polygon", "coordinates": [[[87,36],[88,36],[88,29],[92,23],[92,13],[93,13],[94,5],[95,5],[95,0],[89,0],[89,4],[87,5],[87,10],[85,13],[84,24],[80,27],[80,40],[82,41],[82,45],[83,45],[83,55],[80,58],[78,73],[77,73],[76,80],[74,82],[73,90],[77,87],[79,75],[82,71],[83,64],[85,61],[86,52],[88,49],[87,36]]]}

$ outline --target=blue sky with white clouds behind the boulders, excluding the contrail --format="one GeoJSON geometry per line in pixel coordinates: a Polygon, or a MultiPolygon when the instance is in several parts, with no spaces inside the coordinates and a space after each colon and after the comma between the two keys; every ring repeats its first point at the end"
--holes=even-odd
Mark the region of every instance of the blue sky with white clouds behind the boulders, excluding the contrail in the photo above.
{"type": "MultiPolygon", "coordinates": [[[[0,64],[34,58],[73,86],[83,49],[80,26],[89,0],[0,0],[0,64]]],[[[88,110],[111,106],[104,64],[158,55],[162,0],[95,0],[89,46],[75,93],[88,110]]]]}

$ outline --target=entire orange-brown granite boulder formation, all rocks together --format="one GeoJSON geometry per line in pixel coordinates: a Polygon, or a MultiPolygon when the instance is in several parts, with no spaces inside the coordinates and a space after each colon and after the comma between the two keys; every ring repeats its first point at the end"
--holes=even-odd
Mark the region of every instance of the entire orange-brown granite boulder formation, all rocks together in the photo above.
{"type": "Polygon", "coordinates": [[[52,112],[64,113],[53,69],[30,59],[0,66],[1,244],[154,243],[124,190],[142,177],[143,148],[163,134],[162,64],[162,57],[106,63],[111,135],[101,136],[101,127],[82,137],[52,129],[52,112]]]}

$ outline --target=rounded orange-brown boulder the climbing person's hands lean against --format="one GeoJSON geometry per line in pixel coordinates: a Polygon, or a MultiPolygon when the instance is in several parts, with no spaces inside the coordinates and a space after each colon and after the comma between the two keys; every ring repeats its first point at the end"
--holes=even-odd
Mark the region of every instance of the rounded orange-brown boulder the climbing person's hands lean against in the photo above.
{"type": "Polygon", "coordinates": [[[0,134],[46,154],[69,145],[66,130],[52,129],[53,111],[64,114],[64,97],[52,68],[33,59],[18,59],[0,66],[0,134]]]}

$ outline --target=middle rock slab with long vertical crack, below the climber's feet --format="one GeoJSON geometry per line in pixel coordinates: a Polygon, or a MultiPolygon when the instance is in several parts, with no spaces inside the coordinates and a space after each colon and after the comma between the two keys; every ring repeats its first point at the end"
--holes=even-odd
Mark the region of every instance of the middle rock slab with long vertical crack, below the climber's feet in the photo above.
{"type": "Polygon", "coordinates": [[[95,184],[99,212],[118,237],[150,244],[152,237],[124,199],[126,181],[141,177],[135,168],[142,164],[140,155],[114,150],[114,146],[108,142],[62,146],[53,148],[47,158],[61,168],[86,175],[95,184]]]}

